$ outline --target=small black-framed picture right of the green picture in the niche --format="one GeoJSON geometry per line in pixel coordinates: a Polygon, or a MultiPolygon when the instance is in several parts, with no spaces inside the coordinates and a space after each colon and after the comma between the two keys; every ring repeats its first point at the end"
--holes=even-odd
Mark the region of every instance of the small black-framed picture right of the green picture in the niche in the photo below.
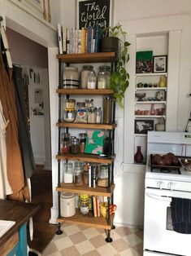
{"type": "Polygon", "coordinates": [[[153,73],[167,72],[167,55],[153,56],[153,73]]]}

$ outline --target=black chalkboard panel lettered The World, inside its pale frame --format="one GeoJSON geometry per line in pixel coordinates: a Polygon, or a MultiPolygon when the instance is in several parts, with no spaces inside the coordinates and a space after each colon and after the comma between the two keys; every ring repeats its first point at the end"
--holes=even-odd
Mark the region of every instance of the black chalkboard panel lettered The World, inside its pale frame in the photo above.
{"type": "Polygon", "coordinates": [[[79,29],[99,24],[102,28],[110,25],[112,0],[78,1],[79,29]]]}

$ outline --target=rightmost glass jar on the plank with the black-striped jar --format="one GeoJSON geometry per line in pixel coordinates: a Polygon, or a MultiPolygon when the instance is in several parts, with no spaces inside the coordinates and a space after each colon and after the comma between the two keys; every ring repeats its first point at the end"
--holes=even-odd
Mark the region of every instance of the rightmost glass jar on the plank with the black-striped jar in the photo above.
{"type": "Polygon", "coordinates": [[[100,66],[98,72],[98,89],[106,89],[111,82],[111,68],[109,66],[100,66]]]}

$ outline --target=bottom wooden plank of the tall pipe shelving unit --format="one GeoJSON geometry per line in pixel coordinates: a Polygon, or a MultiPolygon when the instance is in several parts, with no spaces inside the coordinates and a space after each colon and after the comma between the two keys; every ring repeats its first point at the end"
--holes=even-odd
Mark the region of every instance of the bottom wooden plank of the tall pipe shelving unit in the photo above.
{"type": "Polygon", "coordinates": [[[67,218],[57,218],[57,223],[72,223],[76,225],[83,225],[86,227],[96,227],[111,230],[113,219],[114,214],[111,214],[111,224],[108,224],[106,222],[106,218],[103,218],[102,216],[93,217],[92,213],[89,213],[88,215],[84,216],[80,214],[78,209],[76,209],[76,214],[74,216],[67,218]]]}

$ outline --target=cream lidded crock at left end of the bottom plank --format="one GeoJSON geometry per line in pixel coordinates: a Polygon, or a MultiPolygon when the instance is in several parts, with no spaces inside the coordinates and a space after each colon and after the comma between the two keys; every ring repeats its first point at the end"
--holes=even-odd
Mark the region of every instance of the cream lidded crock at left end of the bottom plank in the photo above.
{"type": "Polygon", "coordinates": [[[75,195],[63,192],[60,196],[61,216],[71,217],[76,214],[75,195]]]}

